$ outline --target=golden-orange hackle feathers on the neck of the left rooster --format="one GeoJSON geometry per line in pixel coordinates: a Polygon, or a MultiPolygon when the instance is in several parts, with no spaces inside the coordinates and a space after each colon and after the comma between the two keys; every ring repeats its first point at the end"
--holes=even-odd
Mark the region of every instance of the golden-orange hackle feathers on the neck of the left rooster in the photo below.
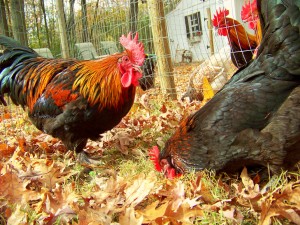
{"type": "MultiPolygon", "coordinates": [[[[78,62],[71,66],[77,70],[73,90],[79,89],[91,106],[117,108],[126,96],[121,84],[121,73],[117,67],[120,57],[125,53],[114,54],[100,60],[78,62]]],[[[134,96],[135,92],[132,93],[134,96]]]]}

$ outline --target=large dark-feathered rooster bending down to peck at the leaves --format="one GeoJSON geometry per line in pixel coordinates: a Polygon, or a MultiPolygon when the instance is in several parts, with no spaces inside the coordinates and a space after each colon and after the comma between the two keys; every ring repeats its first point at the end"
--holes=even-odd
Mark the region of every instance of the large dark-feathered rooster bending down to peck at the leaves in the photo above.
{"type": "Polygon", "coordinates": [[[300,3],[264,1],[258,10],[264,36],[257,58],[182,120],[162,152],[150,149],[168,178],[256,165],[277,173],[300,160],[300,3]]]}

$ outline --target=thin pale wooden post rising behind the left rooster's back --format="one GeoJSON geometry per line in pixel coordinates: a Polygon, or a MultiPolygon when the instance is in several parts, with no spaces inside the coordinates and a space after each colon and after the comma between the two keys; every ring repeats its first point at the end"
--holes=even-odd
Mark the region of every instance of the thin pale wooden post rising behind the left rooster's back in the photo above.
{"type": "Polygon", "coordinates": [[[56,9],[58,14],[61,55],[63,58],[69,58],[70,50],[69,50],[68,38],[67,38],[67,25],[65,20],[63,0],[56,0],[56,9]]]}

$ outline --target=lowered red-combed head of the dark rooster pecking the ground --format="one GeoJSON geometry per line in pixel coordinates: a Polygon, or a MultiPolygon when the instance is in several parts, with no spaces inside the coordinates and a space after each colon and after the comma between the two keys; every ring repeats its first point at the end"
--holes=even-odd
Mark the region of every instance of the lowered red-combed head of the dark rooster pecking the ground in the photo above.
{"type": "Polygon", "coordinates": [[[150,160],[153,162],[155,169],[158,172],[163,172],[168,179],[173,179],[175,177],[180,177],[184,170],[171,156],[164,156],[160,153],[157,146],[154,146],[149,150],[150,160]]]}

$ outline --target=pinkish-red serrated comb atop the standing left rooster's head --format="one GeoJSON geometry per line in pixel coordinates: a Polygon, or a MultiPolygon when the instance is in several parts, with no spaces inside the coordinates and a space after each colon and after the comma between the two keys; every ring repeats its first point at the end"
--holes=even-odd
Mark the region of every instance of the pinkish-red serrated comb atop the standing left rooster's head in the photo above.
{"type": "Polygon", "coordinates": [[[120,37],[120,43],[126,49],[131,61],[135,62],[139,66],[142,66],[145,59],[144,45],[143,43],[138,42],[138,33],[136,33],[133,39],[131,36],[131,32],[129,32],[127,37],[122,35],[122,37],[120,37]]]}

